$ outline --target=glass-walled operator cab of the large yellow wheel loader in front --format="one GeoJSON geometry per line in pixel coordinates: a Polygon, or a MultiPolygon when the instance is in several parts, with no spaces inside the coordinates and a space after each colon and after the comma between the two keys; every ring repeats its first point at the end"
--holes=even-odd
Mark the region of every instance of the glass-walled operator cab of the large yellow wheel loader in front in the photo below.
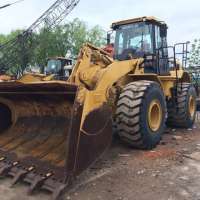
{"type": "Polygon", "coordinates": [[[160,53],[168,58],[167,25],[164,22],[154,17],[142,17],[113,23],[112,29],[116,32],[114,59],[144,58],[145,73],[169,74],[168,59],[157,60],[160,53]]]}

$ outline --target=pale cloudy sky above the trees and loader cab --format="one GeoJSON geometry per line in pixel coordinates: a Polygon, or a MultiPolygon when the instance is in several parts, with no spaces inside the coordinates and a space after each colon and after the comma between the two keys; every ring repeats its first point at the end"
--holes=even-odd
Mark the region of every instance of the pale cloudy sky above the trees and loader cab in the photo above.
{"type": "MultiPolygon", "coordinates": [[[[14,0],[13,0],[14,1],[14,0]]],[[[0,6],[12,0],[0,0],[0,6]]],[[[0,10],[0,33],[27,28],[55,0],[25,0],[0,10]]],[[[168,24],[168,41],[193,41],[200,38],[199,0],[80,0],[65,21],[80,18],[88,26],[110,29],[114,21],[140,16],[156,16],[168,24]]]]}

